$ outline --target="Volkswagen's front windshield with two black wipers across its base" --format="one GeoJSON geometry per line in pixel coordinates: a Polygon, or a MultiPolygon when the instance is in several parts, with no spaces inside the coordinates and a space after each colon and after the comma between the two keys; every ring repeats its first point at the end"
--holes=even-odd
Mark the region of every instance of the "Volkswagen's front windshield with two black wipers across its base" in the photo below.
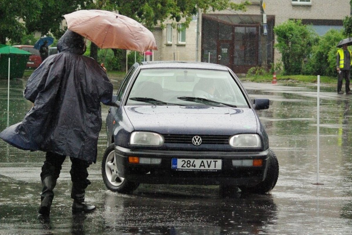
{"type": "Polygon", "coordinates": [[[184,68],[142,69],[126,105],[249,107],[229,72],[184,68]]]}

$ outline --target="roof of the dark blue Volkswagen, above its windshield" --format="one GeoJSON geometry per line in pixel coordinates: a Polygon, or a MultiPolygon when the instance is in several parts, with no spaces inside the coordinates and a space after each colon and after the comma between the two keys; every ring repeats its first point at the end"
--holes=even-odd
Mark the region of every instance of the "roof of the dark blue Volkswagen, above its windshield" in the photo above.
{"type": "Polygon", "coordinates": [[[196,68],[196,69],[216,69],[225,70],[228,68],[222,64],[192,61],[146,61],[139,63],[141,68],[196,68]]]}

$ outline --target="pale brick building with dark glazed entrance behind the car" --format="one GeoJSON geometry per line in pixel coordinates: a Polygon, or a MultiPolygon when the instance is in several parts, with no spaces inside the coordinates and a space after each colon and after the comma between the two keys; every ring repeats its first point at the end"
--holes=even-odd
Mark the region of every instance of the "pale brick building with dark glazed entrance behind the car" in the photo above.
{"type": "MultiPolygon", "coordinates": [[[[239,3],[241,0],[234,0],[239,3]]],[[[263,27],[261,1],[252,0],[246,12],[207,12],[194,16],[188,29],[156,28],[158,51],[153,60],[203,61],[225,64],[236,73],[254,66],[277,62],[273,28],[288,19],[302,19],[319,35],[329,29],[342,29],[350,16],[349,0],[264,0],[266,27],[263,27]]]]}

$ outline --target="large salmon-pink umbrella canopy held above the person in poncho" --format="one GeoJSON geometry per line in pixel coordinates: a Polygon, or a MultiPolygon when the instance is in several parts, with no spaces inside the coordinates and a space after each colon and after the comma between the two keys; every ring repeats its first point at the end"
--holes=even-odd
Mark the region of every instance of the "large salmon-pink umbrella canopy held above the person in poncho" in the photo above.
{"type": "Polygon", "coordinates": [[[69,30],[101,49],[157,50],[152,32],[129,17],[103,10],[79,10],[64,17],[69,30]]]}

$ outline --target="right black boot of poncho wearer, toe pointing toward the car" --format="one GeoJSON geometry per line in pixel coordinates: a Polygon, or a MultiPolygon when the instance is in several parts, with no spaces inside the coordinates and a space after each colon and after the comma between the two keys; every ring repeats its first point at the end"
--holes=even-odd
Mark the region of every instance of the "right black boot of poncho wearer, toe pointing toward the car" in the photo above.
{"type": "Polygon", "coordinates": [[[96,208],[94,205],[89,205],[84,202],[87,185],[72,183],[71,198],[73,198],[72,213],[78,212],[93,212],[96,208]]]}

